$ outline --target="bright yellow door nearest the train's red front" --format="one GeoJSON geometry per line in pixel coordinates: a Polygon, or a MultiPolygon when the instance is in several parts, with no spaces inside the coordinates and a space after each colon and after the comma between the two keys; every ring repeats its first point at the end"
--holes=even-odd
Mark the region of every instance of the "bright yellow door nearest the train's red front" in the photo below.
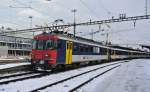
{"type": "Polygon", "coordinates": [[[66,42],[66,64],[72,64],[72,47],[71,41],[66,42]]]}

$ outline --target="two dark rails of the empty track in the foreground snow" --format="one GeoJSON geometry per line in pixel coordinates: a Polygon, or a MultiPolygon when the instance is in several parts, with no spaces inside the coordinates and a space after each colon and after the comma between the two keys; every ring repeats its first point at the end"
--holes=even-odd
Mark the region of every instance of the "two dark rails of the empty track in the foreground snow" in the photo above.
{"type": "MultiPolygon", "coordinates": [[[[110,69],[108,69],[108,70],[106,70],[106,71],[104,71],[104,72],[98,74],[97,76],[94,76],[94,77],[92,78],[92,79],[94,79],[94,78],[96,78],[96,77],[98,77],[98,76],[100,76],[100,75],[103,75],[103,74],[105,74],[105,73],[107,73],[107,72],[109,72],[109,71],[111,71],[111,70],[113,70],[113,69],[119,67],[119,66],[120,66],[120,63],[125,63],[125,62],[119,62],[119,63],[114,63],[114,64],[109,64],[109,65],[101,66],[101,67],[98,67],[98,68],[96,68],[96,69],[89,70],[89,71],[86,71],[86,72],[84,72],[84,73],[80,73],[80,74],[77,74],[77,75],[74,75],[74,76],[71,76],[71,77],[68,77],[68,78],[65,78],[65,79],[56,81],[56,82],[54,82],[54,83],[47,84],[47,85],[42,86],[42,87],[40,87],[40,88],[31,90],[30,92],[41,91],[41,90],[44,90],[44,89],[46,89],[46,88],[49,88],[49,87],[52,87],[52,86],[56,86],[56,85],[58,85],[58,84],[61,84],[61,83],[63,83],[63,82],[66,82],[66,81],[68,81],[68,80],[71,80],[71,79],[80,77],[80,76],[82,76],[82,75],[86,75],[86,74],[88,74],[88,73],[97,71],[97,70],[99,70],[99,69],[103,69],[103,68],[106,68],[106,67],[114,66],[114,65],[115,65],[115,67],[112,67],[112,68],[110,68],[110,69]],[[117,66],[116,66],[116,65],[117,65],[117,66]]],[[[90,80],[88,80],[88,81],[91,81],[92,79],[90,79],[90,80]]],[[[86,82],[86,83],[88,83],[88,82],[86,82]]],[[[84,84],[86,84],[86,83],[82,83],[82,85],[84,85],[84,84]]],[[[76,90],[77,88],[81,87],[82,85],[79,85],[79,86],[77,86],[77,87],[71,89],[70,92],[76,90]]]]}

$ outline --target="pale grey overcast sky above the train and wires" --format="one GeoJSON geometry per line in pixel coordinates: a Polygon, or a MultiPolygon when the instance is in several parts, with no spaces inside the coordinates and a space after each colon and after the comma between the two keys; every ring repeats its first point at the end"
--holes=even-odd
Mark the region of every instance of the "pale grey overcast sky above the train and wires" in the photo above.
{"type": "MultiPolygon", "coordinates": [[[[30,27],[29,16],[33,16],[35,25],[51,24],[56,19],[63,19],[65,23],[73,23],[72,9],[77,9],[76,21],[86,22],[92,20],[109,19],[112,16],[118,18],[120,13],[126,16],[138,16],[145,14],[145,0],[0,0],[0,26],[14,29],[26,29],[30,27]],[[29,8],[10,8],[28,7],[29,8]]],[[[150,0],[148,0],[148,14],[150,13],[150,0]]],[[[111,23],[111,30],[102,25],[102,28],[110,32],[109,40],[118,44],[150,44],[150,20],[139,20],[134,29],[133,21],[111,23]]],[[[84,35],[91,30],[98,30],[96,26],[78,27],[78,35],[84,35]]],[[[95,40],[105,41],[106,36],[98,33],[95,40]]],[[[90,38],[91,36],[87,36],[90,38]]]]}

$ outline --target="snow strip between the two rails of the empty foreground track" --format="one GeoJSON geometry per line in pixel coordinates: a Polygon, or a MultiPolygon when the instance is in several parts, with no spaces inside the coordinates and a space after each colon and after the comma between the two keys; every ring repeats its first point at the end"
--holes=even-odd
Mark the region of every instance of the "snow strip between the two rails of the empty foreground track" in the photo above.
{"type": "Polygon", "coordinates": [[[79,77],[73,78],[71,80],[65,81],[61,84],[58,84],[57,86],[48,87],[45,90],[42,90],[41,92],[69,92],[69,90],[86,82],[87,80],[91,79],[92,77],[97,76],[98,74],[113,68],[114,66],[117,66],[117,65],[105,67],[103,69],[99,69],[99,70],[84,74],[82,76],[79,76],[79,77]]]}

